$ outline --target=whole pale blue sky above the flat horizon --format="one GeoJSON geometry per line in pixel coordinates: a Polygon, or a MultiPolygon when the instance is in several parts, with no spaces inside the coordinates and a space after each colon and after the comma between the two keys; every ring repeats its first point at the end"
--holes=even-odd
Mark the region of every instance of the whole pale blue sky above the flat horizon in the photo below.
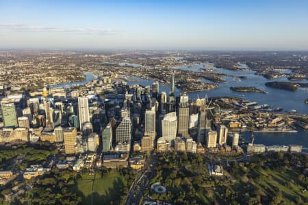
{"type": "Polygon", "coordinates": [[[308,51],[308,1],[0,0],[0,49],[308,51]]]}

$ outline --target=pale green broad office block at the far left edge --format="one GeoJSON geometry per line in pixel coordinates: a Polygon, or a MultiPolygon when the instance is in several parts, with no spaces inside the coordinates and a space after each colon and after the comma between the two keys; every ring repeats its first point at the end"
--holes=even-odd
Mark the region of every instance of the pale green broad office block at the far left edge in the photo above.
{"type": "Polygon", "coordinates": [[[3,126],[5,128],[16,128],[18,126],[16,109],[12,100],[8,98],[3,98],[1,100],[1,113],[3,126]]]}

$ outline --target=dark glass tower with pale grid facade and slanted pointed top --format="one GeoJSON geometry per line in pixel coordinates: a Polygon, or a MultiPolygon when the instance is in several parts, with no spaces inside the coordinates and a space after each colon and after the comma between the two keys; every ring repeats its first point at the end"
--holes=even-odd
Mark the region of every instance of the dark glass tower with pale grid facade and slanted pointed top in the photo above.
{"type": "Polygon", "coordinates": [[[119,141],[131,143],[131,119],[129,116],[123,118],[116,128],[116,143],[119,141]]]}

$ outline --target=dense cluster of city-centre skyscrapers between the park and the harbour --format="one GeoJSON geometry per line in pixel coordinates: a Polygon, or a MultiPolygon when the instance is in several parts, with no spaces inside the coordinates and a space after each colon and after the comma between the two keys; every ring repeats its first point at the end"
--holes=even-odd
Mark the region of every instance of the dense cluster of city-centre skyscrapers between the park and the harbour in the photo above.
{"type": "MultiPolygon", "coordinates": [[[[174,72],[168,94],[159,92],[159,82],[141,87],[97,81],[92,90],[85,90],[44,87],[32,96],[3,98],[1,141],[12,141],[16,128],[23,128],[27,134],[21,139],[64,143],[66,154],[95,152],[99,145],[103,152],[130,152],[138,144],[143,152],[154,148],[194,152],[197,144],[215,148],[227,143],[228,128],[213,113],[207,98],[176,95],[174,72]],[[98,87],[113,93],[103,98],[93,95],[98,87]]],[[[231,144],[237,146],[238,138],[232,139],[231,144]]]]}

